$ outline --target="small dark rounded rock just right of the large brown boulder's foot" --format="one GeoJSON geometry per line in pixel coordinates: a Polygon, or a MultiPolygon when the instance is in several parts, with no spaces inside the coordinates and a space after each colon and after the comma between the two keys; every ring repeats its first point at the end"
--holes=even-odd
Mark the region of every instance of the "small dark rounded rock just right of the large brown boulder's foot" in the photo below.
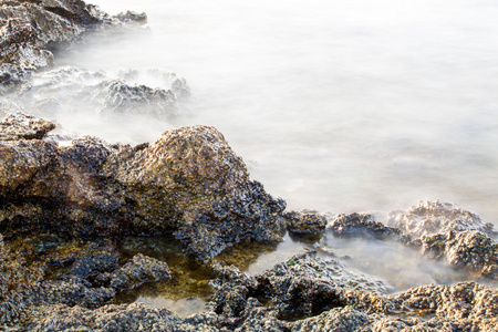
{"type": "Polygon", "coordinates": [[[326,218],[317,211],[290,211],[283,215],[287,229],[299,235],[321,235],[325,230],[326,218]]]}

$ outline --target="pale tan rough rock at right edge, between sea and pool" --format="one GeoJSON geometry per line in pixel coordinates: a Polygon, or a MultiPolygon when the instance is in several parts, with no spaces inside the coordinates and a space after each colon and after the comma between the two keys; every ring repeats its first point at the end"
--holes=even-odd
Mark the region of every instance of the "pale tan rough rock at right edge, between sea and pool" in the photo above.
{"type": "Polygon", "coordinates": [[[390,225],[408,232],[408,245],[449,264],[498,280],[498,243],[491,224],[477,215],[440,201],[421,203],[408,211],[394,211],[390,225]]]}

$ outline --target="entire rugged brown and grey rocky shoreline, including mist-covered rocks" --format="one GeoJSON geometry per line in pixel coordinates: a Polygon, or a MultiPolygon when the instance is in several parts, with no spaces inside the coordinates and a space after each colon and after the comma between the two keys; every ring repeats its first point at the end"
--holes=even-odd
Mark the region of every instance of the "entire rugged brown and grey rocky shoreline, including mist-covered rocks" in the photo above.
{"type": "MultiPolygon", "coordinates": [[[[50,90],[30,76],[50,66],[54,44],[146,21],[133,12],[110,17],[79,0],[1,3],[2,91],[50,90]]],[[[74,73],[98,76],[77,69],[41,75],[68,86],[74,73]]],[[[92,107],[146,105],[162,118],[188,95],[176,77],[170,91],[98,80],[85,92],[103,97],[92,107]]],[[[498,324],[497,231],[473,212],[440,201],[394,211],[385,222],[287,211],[214,127],[175,128],[136,146],[87,136],[63,145],[52,134],[55,123],[1,98],[0,330],[492,331],[498,324]],[[310,243],[328,232],[396,241],[476,279],[393,294],[384,280],[314,251],[255,276],[220,259],[238,243],[277,243],[286,231],[310,243]],[[172,234],[212,274],[205,312],[181,318],[141,303],[111,304],[124,290],[175,278],[167,261],[118,251],[128,236],[160,234],[172,234]]]]}

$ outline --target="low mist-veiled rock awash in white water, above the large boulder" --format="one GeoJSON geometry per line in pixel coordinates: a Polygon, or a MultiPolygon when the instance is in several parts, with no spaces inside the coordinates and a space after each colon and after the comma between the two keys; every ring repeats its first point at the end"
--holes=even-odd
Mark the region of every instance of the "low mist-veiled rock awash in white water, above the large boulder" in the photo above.
{"type": "Polygon", "coordinates": [[[107,74],[62,66],[32,74],[29,82],[12,89],[9,97],[19,108],[45,116],[146,114],[164,121],[177,115],[178,105],[189,94],[185,79],[174,73],[144,70],[107,74]],[[139,84],[143,81],[155,81],[157,87],[139,84]]]}

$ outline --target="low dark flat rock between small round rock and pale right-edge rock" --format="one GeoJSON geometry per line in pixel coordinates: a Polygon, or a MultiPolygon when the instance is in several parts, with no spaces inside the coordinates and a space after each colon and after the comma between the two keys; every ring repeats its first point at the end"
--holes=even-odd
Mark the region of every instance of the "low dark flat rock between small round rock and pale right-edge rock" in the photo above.
{"type": "Polygon", "coordinates": [[[338,215],[328,225],[335,236],[371,236],[380,239],[397,239],[402,231],[375,221],[370,214],[338,215]]]}

